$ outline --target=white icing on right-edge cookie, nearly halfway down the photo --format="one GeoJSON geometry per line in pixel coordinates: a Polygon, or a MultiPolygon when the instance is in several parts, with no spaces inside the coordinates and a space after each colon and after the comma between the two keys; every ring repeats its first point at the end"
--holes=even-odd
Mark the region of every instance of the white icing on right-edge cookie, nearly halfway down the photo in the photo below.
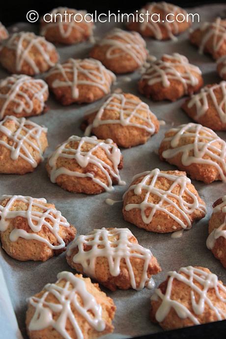
{"type": "Polygon", "coordinates": [[[163,158],[170,159],[181,154],[183,166],[191,164],[214,166],[218,170],[221,180],[226,181],[226,142],[219,138],[215,132],[192,122],[171,128],[168,132],[172,132],[173,135],[165,137],[163,141],[170,141],[172,148],[163,151],[163,158]],[[190,138],[191,141],[179,146],[179,142],[183,138],[190,138]],[[205,159],[205,156],[210,159],[205,159]]]}

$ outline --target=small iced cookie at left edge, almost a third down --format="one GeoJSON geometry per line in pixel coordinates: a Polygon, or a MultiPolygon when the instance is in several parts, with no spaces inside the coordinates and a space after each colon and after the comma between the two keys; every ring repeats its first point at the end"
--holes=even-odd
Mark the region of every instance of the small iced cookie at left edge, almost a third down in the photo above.
{"type": "Polygon", "coordinates": [[[0,119],[39,115],[49,97],[48,85],[27,75],[12,75],[0,81],[0,119]]]}

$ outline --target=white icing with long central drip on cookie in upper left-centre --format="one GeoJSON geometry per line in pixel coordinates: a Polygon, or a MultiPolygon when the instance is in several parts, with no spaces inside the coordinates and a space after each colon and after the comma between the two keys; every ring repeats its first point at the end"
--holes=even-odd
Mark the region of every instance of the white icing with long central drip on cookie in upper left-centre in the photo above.
{"type": "Polygon", "coordinates": [[[99,60],[92,58],[70,58],[63,64],[57,63],[57,65],[47,73],[47,78],[54,74],[63,77],[63,80],[54,80],[52,86],[54,88],[71,87],[71,94],[74,99],[79,97],[79,85],[96,86],[100,88],[104,94],[108,94],[112,82],[116,80],[113,72],[105,68],[99,60]],[[68,77],[68,73],[72,73],[71,80],[68,77]],[[80,75],[82,75],[82,79],[80,79],[80,75]],[[88,80],[84,80],[84,77],[87,77],[88,80]]]}

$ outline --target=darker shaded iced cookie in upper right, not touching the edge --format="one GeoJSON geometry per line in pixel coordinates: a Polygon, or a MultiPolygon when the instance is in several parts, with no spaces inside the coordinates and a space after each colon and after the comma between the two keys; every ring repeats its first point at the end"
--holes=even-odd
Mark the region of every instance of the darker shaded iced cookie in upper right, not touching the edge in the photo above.
{"type": "Polygon", "coordinates": [[[175,101],[203,85],[200,69],[178,53],[164,54],[151,63],[139,81],[139,91],[152,100],[175,101]]]}

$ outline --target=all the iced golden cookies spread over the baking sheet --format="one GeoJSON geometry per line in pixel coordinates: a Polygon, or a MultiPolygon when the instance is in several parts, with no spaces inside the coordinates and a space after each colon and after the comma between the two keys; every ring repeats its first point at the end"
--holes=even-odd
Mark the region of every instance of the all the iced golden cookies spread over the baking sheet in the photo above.
{"type": "MultiPolygon", "coordinates": [[[[185,13],[165,2],[145,8],[163,18],[169,11],[185,13]]],[[[52,13],[63,11],[57,8],[52,13]]],[[[78,13],[74,9],[69,12],[78,13]]],[[[62,105],[90,103],[106,96],[98,111],[84,117],[81,129],[85,135],[70,136],[49,156],[46,169],[51,182],[85,194],[111,192],[113,185],[125,185],[119,173],[123,166],[119,147],[145,143],[159,132],[161,122],[139,97],[110,94],[111,85],[116,80],[114,73],[142,68],[141,94],[157,101],[190,95],[182,107],[198,123],[166,132],[159,147],[160,159],[179,170],[152,169],[137,174],[123,195],[122,217],[157,233],[183,231],[204,218],[205,202],[187,174],[206,184],[226,181],[226,142],[213,131],[225,130],[226,82],[202,88],[201,71],[187,57],[174,53],[153,60],[141,37],[175,39],[190,26],[189,22],[129,23],[128,28],[135,31],[113,29],[96,42],[90,58],[70,58],[61,64],[52,42],[73,44],[92,38],[92,24],[42,21],[43,36],[19,32],[9,38],[0,26],[0,63],[14,73],[0,82],[0,173],[25,174],[44,160],[48,131],[26,117],[45,110],[50,89],[62,105]],[[31,77],[46,71],[45,80],[31,77]]],[[[205,24],[193,31],[190,39],[200,51],[220,57],[217,69],[224,79],[224,21],[205,24]],[[216,34],[220,34],[217,45],[216,34]]],[[[226,197],[214,203],[206,244],[226,267],[225,206],[226,197]]],[[[102,227],[77,236],[76,228],[44,198],[2,196],[0,240],[8,255],[22,261],[46,261],[66,250],[67,263],[81,273],[63,271],[56,283],[47,284],[29,298],[26,325],[31,339],[97,338],[113,332],[113,299],[89,278],[111,291],[139,291],[153,287],[152,276],[161,271],[158,259],[128,228],[102,227]]],[[[203,267],[169,272],[151,297],[150,318],[164,329],[226,319],[226,286],[203,267]]]]}

